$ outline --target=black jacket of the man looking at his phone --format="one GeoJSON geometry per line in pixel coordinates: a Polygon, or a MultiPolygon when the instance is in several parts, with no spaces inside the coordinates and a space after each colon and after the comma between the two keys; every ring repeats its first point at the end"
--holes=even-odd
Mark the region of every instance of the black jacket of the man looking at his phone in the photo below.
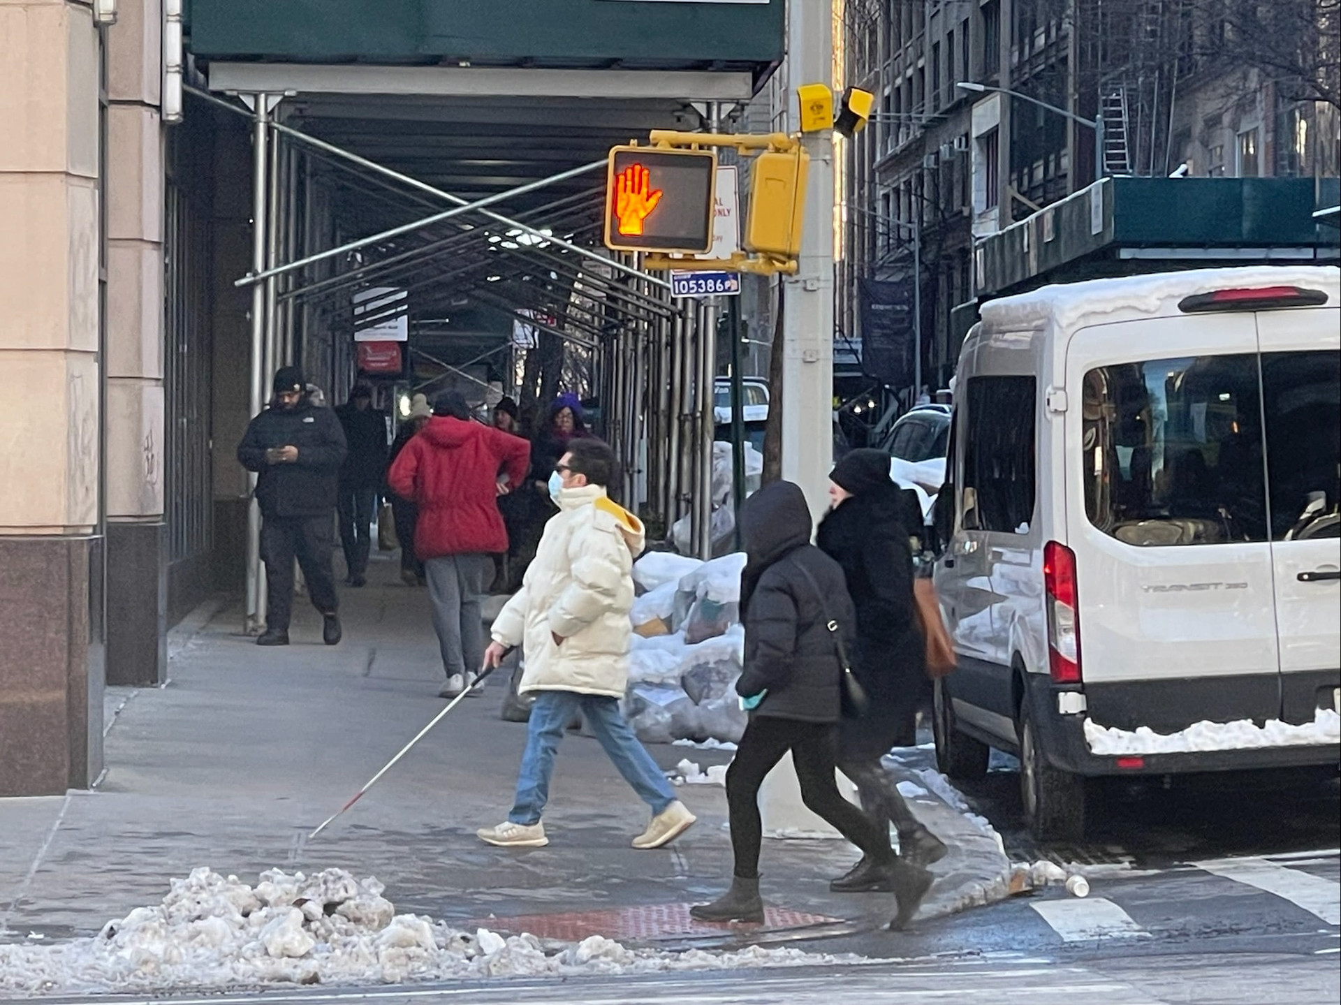
{"type": "Polygon", "coordinates": [[[257,472],[256,502],[266,517],[326,517],[335,509],[345,462],[345,431],[331,409],[310,396],[294,408],[271,405],[251,420],[237,462],[257,472]],[[298,460],[271,464],[266,451],[296,447],[298,460]]]}

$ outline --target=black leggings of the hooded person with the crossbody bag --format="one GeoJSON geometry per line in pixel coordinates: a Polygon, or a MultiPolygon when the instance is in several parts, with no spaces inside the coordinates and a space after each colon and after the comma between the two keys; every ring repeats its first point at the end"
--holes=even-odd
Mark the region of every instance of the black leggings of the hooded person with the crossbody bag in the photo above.
{"type": "Polygon", "coordinates": [[[889,859],[892,852],[888,833],[838,792],[834,781],[834,727],[756,715],[740,738],[736,759],[727,769],[735,875],[742,879],[755,879],[759,875],[759,845],[763,841],[759,786],[789,750],[797,765],[801,800],[806,808],[827,820],[866,855],[889,859]]]}

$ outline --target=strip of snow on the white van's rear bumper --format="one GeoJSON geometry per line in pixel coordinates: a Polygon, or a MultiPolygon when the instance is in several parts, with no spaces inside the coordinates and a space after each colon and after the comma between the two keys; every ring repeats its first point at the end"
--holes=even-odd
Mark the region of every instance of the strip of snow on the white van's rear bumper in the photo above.
{"type": "Polygon", "coordinates": [[[1267,719],[1258,726],[1251,719],[1235,722],[1196,722],[1177,733],[1156,733],[1149,726],[1136,731],[1100,726],[1085,719],[1085,741],[1090,753],[1114,754],[1187,754],[1207,750],[1259,750],[1263,747],[1295,747],[1314,743],[1341,743],[1341,714],[1333,708],[1318,708],[1313,722],[1291,726],[1279,719],[1267,719]]]}

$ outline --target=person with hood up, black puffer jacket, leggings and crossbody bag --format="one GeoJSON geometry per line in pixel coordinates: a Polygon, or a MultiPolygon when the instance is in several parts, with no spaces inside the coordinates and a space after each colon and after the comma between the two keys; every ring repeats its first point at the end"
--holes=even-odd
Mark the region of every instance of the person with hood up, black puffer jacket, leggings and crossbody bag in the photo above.
{"type": "Polygon", "coordinates": [[[742,507],[740,529],[747,554],[740,577],[746,649],[736,692],[752,711],[727,769],[735,869],[731,890],[691,914],[700,920],[763,920],[759,788],[791,751],[806,806],[890,869],[896,892],[907,896],[908,910],[901,896],[894,920],[901,927],[921,896],[897,872],[888,835],[848,802],[834,781],[843,667],[833,631],[850,631],[854,623],[842,569],[810,543],[810,510],[790,482],[755,492],[742,507]],[[830,617],[837,621],[833,631],[830,617]]]}

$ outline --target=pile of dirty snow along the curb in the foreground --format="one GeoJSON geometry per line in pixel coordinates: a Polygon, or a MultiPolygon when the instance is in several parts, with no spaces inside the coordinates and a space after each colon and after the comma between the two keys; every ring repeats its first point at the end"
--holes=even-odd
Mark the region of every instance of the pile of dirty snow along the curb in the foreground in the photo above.
{"type": "Polygon", "coordinates": [[[107,922],[93,938],[0,945],[0,992],[160,992],[272,984],[400,984],[862,962],[795,949],[684,954],[629,949],[599,935],[542,943],[487,929],[459,931],[396,914],[375,879],[345,869],[263,872],[252,887],[193,869],[157,907],[107,922]]]}

